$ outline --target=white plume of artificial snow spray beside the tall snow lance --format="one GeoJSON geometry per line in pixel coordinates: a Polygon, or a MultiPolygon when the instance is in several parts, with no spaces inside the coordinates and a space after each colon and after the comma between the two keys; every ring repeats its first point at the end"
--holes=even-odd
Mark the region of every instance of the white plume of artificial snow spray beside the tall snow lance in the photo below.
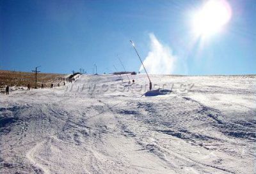
{"type": "MultiPolygon", "coordinates": [[[[153,33],[149,34],[151,41],[151,50],[143,61],[145,68],[150,74],[170,74],[173,72],[174,62],[177,59],[172,54],[172,49],[162,45],[153,33]]],[[[140,71],[143,71],[141,65],[140,71]]]]}

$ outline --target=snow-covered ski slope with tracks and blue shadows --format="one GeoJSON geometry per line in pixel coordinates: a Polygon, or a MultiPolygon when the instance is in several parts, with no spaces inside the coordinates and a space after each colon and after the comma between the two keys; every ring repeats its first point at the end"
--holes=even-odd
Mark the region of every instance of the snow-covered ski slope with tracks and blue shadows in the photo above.
{"type": "Polygon", "coordinates": [[[125,77],[1,94],[0,173],[256,172],[256,76],[125,77]]]}

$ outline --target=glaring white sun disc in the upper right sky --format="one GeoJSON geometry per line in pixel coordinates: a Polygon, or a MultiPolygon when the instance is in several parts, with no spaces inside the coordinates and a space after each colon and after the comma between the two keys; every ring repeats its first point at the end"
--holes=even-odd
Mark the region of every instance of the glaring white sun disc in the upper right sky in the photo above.
{"type": "Polygon", "coordinates": [[[230,5],[225,0],[209,0],[193,16],[193,30],[197,36],[214,34],[231,18],[230,5]]]}

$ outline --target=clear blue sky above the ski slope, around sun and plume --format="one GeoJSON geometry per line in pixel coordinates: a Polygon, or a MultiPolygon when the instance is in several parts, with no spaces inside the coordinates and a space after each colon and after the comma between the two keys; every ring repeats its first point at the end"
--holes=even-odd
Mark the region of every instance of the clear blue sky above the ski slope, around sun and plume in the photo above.
{"type": "Polygon", "coordinates": [[[172,74],[256,74],[256,1],[228,1],[225,29],[193,43],[191,11],[204,1],[8,1],[0,0],[0,69],[70,73],[129,71],[150,52],[150,34],[175,55],[172,74]],[[200,48],[199,48],[200,47],[200,48]],[[107,69],[108,68],[108,69],[107,69]]]}

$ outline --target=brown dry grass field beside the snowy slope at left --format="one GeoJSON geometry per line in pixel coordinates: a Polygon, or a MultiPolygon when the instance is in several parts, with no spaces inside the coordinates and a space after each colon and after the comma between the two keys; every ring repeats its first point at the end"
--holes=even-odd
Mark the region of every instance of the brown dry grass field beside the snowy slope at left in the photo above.
{"type": "MultiPolygon", "coordinates": [[[[50,87],[51,83],[57,85],[57,83],[65,80],[64,76],[53,73],[38,73],[37,85],[38,87],[41,87],[42,83],[44,83],[44,87],[50,87]]],[[[6,85],[10,87],[27,87],[28,83],[31,88],[35,88],[35,73],[0,70],[0,89],[3,89],[6,85]]]]}

